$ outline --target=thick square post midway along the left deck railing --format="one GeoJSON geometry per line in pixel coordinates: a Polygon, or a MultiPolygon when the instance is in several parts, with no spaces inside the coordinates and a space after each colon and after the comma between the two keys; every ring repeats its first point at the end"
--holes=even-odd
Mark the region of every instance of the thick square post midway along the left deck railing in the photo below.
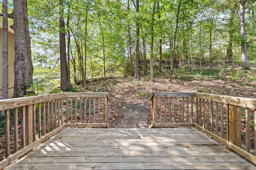
{"type": "Polygon", "coordinates": [[[33,142],[33,105],[26,106],[25,115],[26,143],[24,146],[27,146],[33,142]]]}

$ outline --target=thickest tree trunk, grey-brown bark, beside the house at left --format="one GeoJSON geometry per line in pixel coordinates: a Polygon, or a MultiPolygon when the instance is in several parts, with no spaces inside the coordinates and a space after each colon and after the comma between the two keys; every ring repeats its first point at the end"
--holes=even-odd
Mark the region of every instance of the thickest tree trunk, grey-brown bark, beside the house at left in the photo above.
{"type": "Polygon", "coordinates": [[[14,98],[28,94],[33,83],[30,35],[28,30],[28,8],[26,0],[13,1],[14,29],[14,98]]]}

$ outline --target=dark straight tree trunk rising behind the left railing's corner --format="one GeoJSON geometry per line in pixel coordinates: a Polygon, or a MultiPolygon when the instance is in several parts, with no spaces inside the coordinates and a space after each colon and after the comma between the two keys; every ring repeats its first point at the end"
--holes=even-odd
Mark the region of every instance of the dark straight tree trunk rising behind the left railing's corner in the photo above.
{"type": "Polygon", "coordinates": [[[68,91],[71,89],[70,76],[68,75],[67,54],[66,54],[66,33],[64,23],[64,5],[59,0],[59,38],[60,38],[60,89],[68,91]]]}

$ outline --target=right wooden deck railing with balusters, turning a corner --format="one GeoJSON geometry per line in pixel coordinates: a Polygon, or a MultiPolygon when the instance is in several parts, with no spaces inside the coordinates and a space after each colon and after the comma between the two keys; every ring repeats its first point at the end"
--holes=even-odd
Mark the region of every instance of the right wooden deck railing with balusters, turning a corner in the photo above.
{"type": "Polygon", "coordinates": [[[153,92],[151,127],[196,127],[256,163],[256,99],[153,92]]]}

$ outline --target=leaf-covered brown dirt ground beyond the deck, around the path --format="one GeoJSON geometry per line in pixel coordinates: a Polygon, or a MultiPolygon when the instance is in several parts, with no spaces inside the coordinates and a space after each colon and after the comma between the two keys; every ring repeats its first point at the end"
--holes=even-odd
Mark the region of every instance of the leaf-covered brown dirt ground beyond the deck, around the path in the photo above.
{"type": "Polygon", "coordinates": [[[230,75],[221,78],[203,77],[192,81],[173,80],[168,81],[168,75],[160,75],[149,81],[141,78],[134,80],[132,77],[108,78],[94,82],[91,92],[108,92],[109,123],[110,127],[118,128],[122,120],[122,107],[128,103],[139,103],[144,106],[148,114],[148,122],[151,117],[151,92],[203,92],[228,96],[256,98],[256,82],[243,76],[235,79],[230,75]]]}

